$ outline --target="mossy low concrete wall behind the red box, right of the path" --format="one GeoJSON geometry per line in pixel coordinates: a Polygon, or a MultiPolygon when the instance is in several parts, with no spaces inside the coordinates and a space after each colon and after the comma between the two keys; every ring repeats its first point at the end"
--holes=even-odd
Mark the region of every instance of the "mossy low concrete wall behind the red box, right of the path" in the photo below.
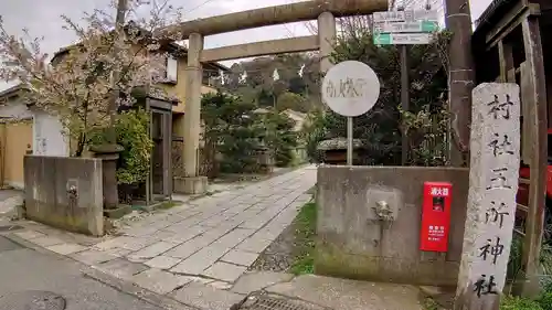
{"type": "Polygon", "coordinates": [[[317,274],[416,285],[455,286],[460,261],[468,170],[447,168],[320,167],[317,274]],[[420,248],[423,183],[453,184],[448,253],[420,248]],[[394,221],[372,210],[385,200],[394,221]]]}

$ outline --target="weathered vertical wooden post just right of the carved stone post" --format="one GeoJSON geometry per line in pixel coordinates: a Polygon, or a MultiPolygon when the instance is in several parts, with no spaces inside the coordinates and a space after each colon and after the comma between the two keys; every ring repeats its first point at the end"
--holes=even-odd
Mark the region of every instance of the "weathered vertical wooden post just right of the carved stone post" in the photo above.
{"type": "Polygon", "coordinates": [[[539,19],[528,17],[522,21],[523,45],[526,50],[527,76],[530,79],[524,98],[528,105],[529,128],[531,130],[532,153],[529,162],[531,184],[529,185],[529,213],[523,243],[523,266],[528,278],[524,295],[534,295],[539,290],[539,255],[542,242],[546,192],[548,157],[548,106],[544,61],[542,57],[539,19]]]}

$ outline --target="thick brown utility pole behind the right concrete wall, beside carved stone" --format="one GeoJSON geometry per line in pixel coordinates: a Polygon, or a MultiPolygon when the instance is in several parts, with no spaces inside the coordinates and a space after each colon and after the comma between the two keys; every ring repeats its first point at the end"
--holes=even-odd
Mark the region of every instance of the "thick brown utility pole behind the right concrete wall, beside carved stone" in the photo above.
{"type": "Polygon", "coordinates": [[[453,33],[448,47],[448,101],[450,110],[450,163],[465,167],[468,160],[474,58],[471,14],[468,0],[445,0],[445,21],[453,33]]]}

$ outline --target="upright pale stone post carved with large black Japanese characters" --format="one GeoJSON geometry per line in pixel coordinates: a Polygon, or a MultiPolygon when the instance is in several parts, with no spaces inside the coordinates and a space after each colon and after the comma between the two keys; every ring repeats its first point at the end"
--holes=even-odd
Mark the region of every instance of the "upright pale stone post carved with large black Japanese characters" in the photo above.
{"type": "Polygon", "coordinates": [[[469,192],[455,310],[498,310],[516,216],[520,163],[517,84],[473,92],[469,192]]]}

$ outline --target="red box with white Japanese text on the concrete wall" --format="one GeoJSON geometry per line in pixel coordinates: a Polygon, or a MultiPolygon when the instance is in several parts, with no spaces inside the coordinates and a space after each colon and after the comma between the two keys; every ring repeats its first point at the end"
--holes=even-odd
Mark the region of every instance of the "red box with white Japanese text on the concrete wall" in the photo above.
{"type": "Polygon", "coordinates": [[[421,250],[447,252],[452,191],[450,183],[424,183],[422,232],[420,233],[421,250]]]}

